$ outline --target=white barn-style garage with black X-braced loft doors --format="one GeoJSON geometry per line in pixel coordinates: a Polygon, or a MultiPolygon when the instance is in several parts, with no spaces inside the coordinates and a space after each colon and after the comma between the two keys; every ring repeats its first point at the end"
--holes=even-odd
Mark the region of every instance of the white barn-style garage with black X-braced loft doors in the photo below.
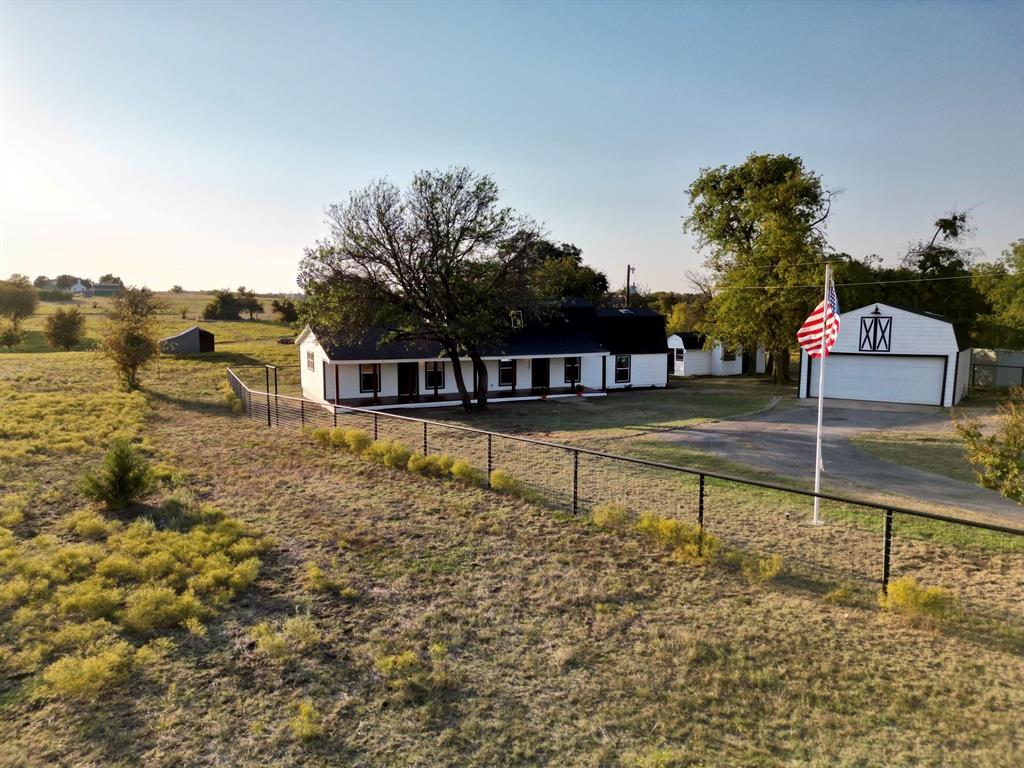
{"type": "MultiPolygon", "coordinates": [[[[801,350],[800,397],[818,396],[819,365],[801,350]]],[[[880,302],[840,315],[824,394],[948,407],[967,394],[970,372],[966,335],[950,321],[880,302]]]]}

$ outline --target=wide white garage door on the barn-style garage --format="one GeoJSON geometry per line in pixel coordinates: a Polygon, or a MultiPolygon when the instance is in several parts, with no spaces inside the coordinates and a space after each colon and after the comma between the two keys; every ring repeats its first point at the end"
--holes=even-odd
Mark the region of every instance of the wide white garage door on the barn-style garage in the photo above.
{"type": "MultiPolygon", "coordinates": [[[[818,396],[818,362],[811,360],[811,397],[818,396]]],[[[941,406],[944,369],[943,357],[831,355],[825,362],[825,397],[941,406]]],[[[804,387],[807,391],[806,379],[804,387]]]]}

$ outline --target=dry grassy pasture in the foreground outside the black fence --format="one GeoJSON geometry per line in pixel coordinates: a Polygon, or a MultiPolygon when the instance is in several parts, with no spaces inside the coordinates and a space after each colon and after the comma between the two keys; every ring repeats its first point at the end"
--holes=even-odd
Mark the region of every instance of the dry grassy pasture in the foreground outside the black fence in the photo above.
{"type": "MultiPolygon", "coordinates": [[[[288,329],[217,325],[217,352],[163,358],[132,395],[90,352],[0,354],[0,499],[24,502],[6,520],[5,590],[6,563],[39,535],[79,546],[69,516],[98,510],[78,479],[117,435],[168,468],[166,487],[136,513],[159,526],[174,498],[190,496],[262,542],[258,575],[205,614],[201,630],[167,627],[157,644],[116,608],[135,660],[95,696],[55,690],[23,657],[16,629],[32,616],[14,621],[5,604],[0,764],[1024,761],[1024,642],[1009,620],[882,610],[840,577],[679,558],[628,525],[267,429],[225,407],[224,370],[293,365],[294,347],[272,341],[288,329]],[[232,333],[234,343],[220,346],[232,333]]],[[[640,439],[624,435],[664,419],[756,410],[774,396],[752,385],[749,395],[693,398],[689,410],[677,400],[669,413],[637,394],[635,410],[596,422],[601,439],[640,439]]],[[[487,418],[505,429],[524,417],[496,408],[487,418]]],[[[571,432],[560,424],[548,436],[571,432]]],[[[767,492],[716,490],[723,521],[737,510],[756,521],[780,504],[767,492]]],[[[864,547],[877,548],[870,532],[864,547]]],[[[1020,568],[1015,553],[978,542],[907,546],[924,583],[979,562],[1004,575],[1020,568]]]]}

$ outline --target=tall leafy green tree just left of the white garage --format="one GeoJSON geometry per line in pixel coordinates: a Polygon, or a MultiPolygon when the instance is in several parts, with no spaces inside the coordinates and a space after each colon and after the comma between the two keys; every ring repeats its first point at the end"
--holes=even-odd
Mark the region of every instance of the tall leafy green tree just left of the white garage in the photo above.
{"type": "Polygon", "coordinates": [[[820,301],[833,193],[790,155],[751,155],[701,170],[688,188],[687,231],[707,253],[715,284],[705,332],[769,351],[776,382],[788,378],[796,331],[820,301]]]}

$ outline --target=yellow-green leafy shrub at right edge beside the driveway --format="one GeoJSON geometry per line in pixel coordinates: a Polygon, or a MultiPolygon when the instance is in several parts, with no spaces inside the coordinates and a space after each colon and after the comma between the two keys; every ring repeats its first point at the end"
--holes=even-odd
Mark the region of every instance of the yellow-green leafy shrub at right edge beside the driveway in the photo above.
{"type": "Polygon", "coordinates": [[[1010,390],[999,404],[992,434],[983,434],[977,421],[957,421],[956,432],[978,482],[1024,504],[1024,388],[1010,390]]]}

